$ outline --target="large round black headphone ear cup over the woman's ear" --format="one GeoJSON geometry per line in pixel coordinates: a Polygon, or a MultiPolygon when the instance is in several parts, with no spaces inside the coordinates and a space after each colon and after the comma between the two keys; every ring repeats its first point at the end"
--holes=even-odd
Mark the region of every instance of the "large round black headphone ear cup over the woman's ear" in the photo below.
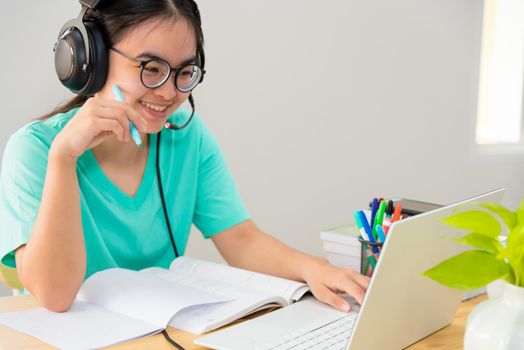
{"type": "Polygon", "coordinates": [[[77,95],[95,94],[107,79],[109,51],[105,37],[95,22],[84,18],[100,1],[80,0],[80,14],[60,29],[53,50],[58,79],[77,95]]]}

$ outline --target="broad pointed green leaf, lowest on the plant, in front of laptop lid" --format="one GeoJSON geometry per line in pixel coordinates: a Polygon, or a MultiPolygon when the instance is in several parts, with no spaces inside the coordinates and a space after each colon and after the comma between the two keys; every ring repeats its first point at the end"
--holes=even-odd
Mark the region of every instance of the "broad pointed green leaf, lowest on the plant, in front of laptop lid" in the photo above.
{"type": "Polygon", "coordinates": [[[422,274],[447,287],[473,290],[504,277],[508,272],[509,266],[497,260],[494,254],[469,250],[444,260],[422,274]]]}

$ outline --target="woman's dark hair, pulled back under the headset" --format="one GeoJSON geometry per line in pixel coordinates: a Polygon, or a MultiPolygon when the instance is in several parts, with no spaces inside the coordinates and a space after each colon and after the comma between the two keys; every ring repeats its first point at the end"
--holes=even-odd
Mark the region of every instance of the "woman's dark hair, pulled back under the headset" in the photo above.
{"type": "MultiPolygon", "coordinates": [[[[119,42],[139,24],[160,19],[185,19],[193,29],[196,38],[196,56],[199,66],[204,69],[204,35],[198,6],[194,0],[112,0],[102,1],[94,10],[85,14],[86,21],[95,22],[102,30],[108,47],[119,42]]],[[[55,114],[65,113],[81,107],[90,96],[76,95],[56,107],[52,112],[38,118],[45,120],[55,114]]],[[[195,112],[193,95],[189,95],[192,114],[195,112]]]]}

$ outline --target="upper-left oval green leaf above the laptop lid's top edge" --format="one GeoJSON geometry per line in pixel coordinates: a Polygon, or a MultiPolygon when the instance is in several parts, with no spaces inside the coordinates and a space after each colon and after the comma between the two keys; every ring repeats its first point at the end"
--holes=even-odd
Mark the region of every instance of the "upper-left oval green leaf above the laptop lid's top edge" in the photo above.
{"type": "Polygon", "coordinates": [[[463,230],[477,232],[490,237],[498,237],[502,227],[497,219],[482,210],[467,210],[442,219],[447,225],[463,230]]]}

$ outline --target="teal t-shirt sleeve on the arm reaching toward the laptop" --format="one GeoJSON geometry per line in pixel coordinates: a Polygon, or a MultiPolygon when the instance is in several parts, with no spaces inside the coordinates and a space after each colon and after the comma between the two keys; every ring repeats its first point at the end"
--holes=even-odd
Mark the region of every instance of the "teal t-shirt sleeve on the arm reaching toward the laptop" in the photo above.
{"type": "Polygon", "coordinates": [[[201,123],[197,198],[193,223],[205,238],[249,219],[214,136],[201,123]]]}

